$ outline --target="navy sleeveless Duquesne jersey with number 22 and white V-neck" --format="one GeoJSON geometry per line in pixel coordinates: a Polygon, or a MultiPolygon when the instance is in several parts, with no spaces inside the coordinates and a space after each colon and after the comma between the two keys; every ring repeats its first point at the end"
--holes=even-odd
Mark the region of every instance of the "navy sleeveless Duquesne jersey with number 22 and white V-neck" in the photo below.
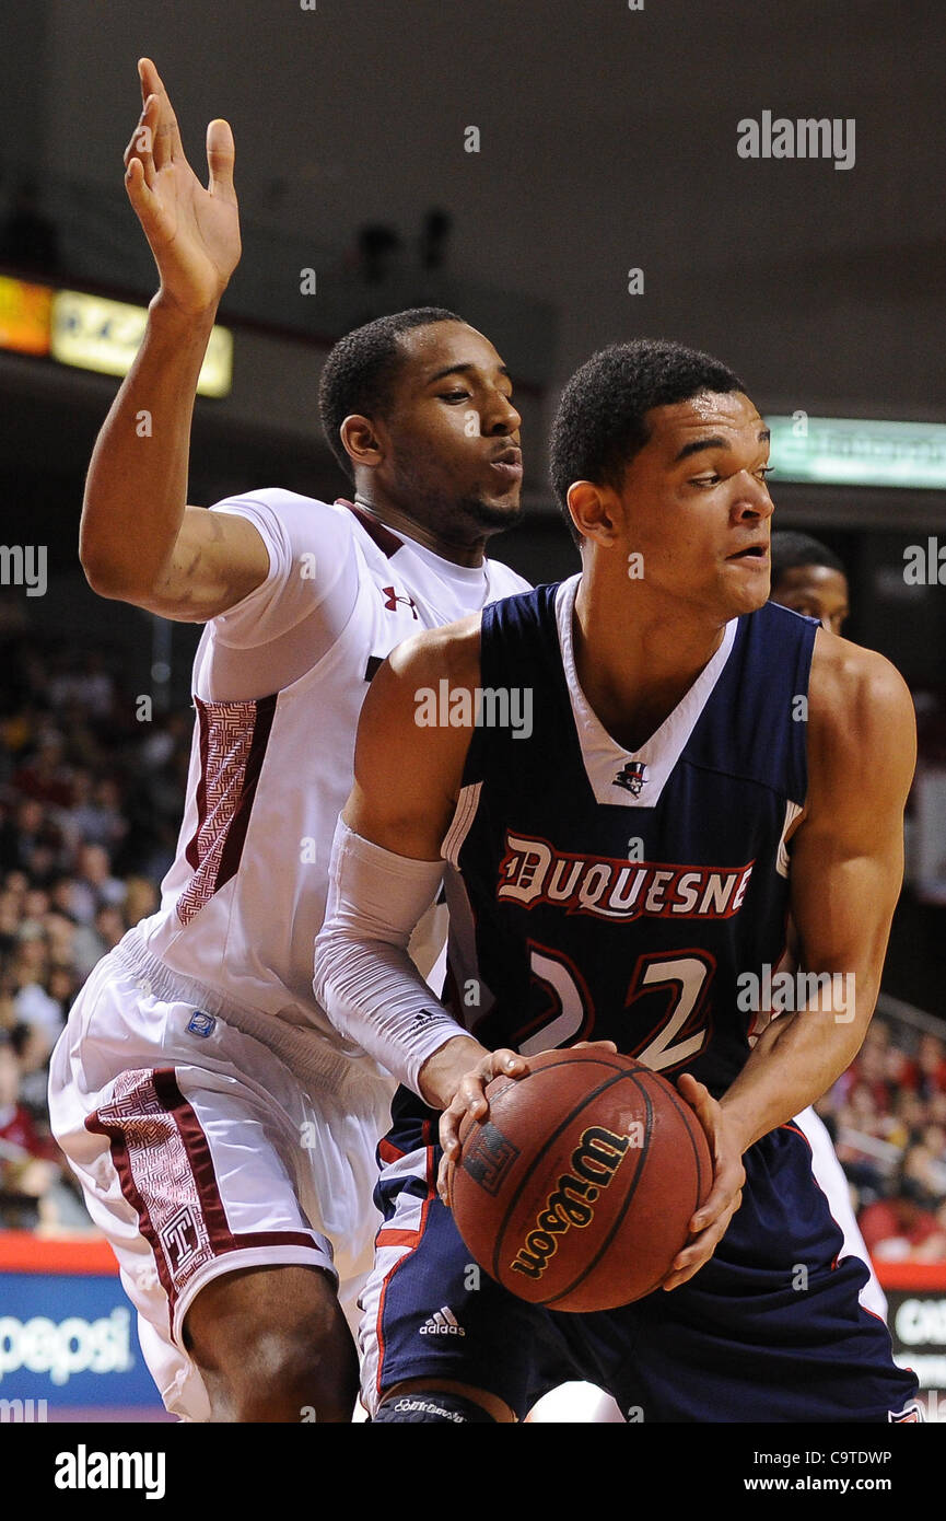
{"type": "Polygon", "coordinates": [[[443,852],[444,1001],[487,1046],[613,1040],[719,1095],[750,1051],[753,989],[785,952],[817,624],[774,604],[733,619],[631,753],[575,674],[578,580],[482,616],[478,726],[443,852]]]}

